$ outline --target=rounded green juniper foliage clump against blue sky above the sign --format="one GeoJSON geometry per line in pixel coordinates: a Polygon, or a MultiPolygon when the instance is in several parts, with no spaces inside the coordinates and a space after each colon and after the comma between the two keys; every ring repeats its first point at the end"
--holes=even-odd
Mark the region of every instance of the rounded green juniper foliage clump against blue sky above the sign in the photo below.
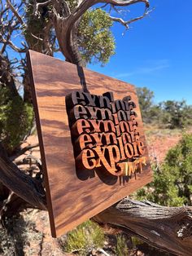
{"type": "Polygon", "coordinates": [[[106,11],[86,11],[78,32],[78,44],[85,63],[107,64],[115,54],[115,38],[111,33],[113,22],[106,11]]]}

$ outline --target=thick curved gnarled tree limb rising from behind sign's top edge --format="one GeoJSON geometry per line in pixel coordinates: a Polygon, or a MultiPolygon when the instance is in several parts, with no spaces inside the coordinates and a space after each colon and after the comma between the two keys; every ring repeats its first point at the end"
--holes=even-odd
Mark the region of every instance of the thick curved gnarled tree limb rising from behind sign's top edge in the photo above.
{"type": "Polygon", "coordinates": [[[84,15],[85,11],[97,3],[109,3],[116,6],[125,7],[137,2],[143,2],[145,3],[146,8],[149,7],[148,0],[83,0],[79,2],[78,6],[72,11],[70,15],[68,15],[68,11],[66,11],[65,15],[63,16],[59,14],[59,4],[61,5],[61,2],[53,2],[53,25],[55,28],[56,37],[58,38],[60,50],[66,57],[66,60],[80,66],[84,65],[84,61],[81,58],[81,54],[77,45],[76,30],[78,27],[77,23],[81,19],[82,15],[84,15]]]}

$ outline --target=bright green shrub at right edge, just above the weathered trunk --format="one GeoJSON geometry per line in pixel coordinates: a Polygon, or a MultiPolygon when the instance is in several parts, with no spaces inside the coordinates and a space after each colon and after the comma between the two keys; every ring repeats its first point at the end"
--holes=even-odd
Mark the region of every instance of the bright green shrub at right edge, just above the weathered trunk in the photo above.
{"type": "Polygon", "coordinates": [[[192,205],[192,134],[168,151],[164,163],[154,168],[154,181],[137,192],[137,199],[160,205],[192,205]]]}

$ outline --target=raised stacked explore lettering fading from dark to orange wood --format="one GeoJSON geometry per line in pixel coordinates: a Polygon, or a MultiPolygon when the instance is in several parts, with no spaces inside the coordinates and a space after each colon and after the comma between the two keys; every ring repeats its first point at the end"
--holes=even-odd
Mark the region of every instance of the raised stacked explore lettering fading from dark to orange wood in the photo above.
{"type": "Polygon", "coordinates": [[[81,90],[66,97],[76,170],[104,168],[116,176],[131,176],[146,165],[136,104],[130,96],[91,95],[81,90]]]}

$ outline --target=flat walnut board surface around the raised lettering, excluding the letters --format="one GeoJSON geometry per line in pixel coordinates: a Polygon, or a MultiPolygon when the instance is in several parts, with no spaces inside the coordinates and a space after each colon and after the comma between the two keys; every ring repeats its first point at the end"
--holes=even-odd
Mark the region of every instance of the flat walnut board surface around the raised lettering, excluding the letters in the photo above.
{"type": "MultiPolygon", "coordinates": [[[[29,51],[28,63],[31,68],[41,161],[45,172],[50,227],[52,236],[58,237],[151,182],[151,167],[146,149],[146,166],[142,167],[141,173],[137,173],[136,179],[111,176],[103,170],[93,171],[89,175],[82,171],[78,176],[65,96],[82,89],[82,77],[79,77],[76,65],[35,51],[29,51]]],[[[91,94],[103,95],[112,91],[114,99],[123,99],[129,95],[132,97],[137,106],[134,110],[137,113],[138,132],[146,148],[134,86],[86,68],[84,73],[91,94]]]]}

